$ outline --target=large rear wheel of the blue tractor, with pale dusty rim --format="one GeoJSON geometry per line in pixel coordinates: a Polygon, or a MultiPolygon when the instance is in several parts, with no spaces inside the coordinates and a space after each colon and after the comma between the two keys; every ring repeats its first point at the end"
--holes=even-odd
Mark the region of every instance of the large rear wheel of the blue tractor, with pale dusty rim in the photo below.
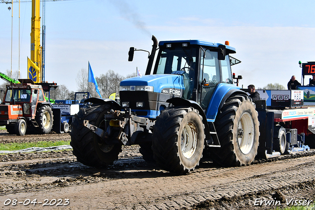
{"type": "Polygon", "coordinates": [[[259,144],[258,113],[252,99],[233,96],[226,100],[215,126],[221,147],[211,147],[212,159],[222,166],[252,164],[259,144]]]}

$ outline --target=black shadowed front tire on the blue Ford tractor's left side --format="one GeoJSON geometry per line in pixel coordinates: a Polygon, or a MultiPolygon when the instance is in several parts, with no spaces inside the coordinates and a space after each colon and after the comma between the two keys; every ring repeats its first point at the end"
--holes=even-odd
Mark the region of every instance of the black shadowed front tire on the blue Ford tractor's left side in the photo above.
{"type": "Polygon", "coordinates": [[[83,120],[89,120],[91,125],[105,129],[104,114],[110,109],[110,105],[82,107],[72,122],[70,145],[80,163],[92,167],[103,167],[113,164],[114,160],[118,159],[122,144],[105,144],[94,132],[83,126],[83,120]]]}

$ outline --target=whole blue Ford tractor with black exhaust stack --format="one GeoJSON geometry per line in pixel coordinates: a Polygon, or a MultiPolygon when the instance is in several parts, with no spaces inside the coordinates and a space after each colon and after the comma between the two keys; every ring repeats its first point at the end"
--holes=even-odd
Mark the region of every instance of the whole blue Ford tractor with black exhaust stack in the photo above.
{"type": "MultiPolygon", "coordinates": [[[[75,115],[70,144],[77,160],[107,166],[122,145],[139,144],[146,161],[174,173],[194,170],[205,154],[223,166],[251,164],[258,114],[233,84],[231,65],[240,62],[230,56],[235,48],[228,42],[152,40],[146,73],[121,81],[120,104],[90,98],[91,105],[75,115]]],[[[129,61],[137,50],[130,48],[129,61]]]]}

